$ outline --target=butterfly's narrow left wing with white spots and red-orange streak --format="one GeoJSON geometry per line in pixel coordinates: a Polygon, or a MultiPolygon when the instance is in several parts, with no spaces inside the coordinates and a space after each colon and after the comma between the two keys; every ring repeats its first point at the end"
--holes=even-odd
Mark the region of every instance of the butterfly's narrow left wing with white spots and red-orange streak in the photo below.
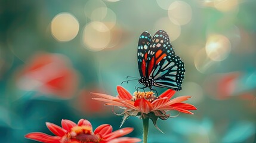
{"type": "Polygon", "coordinates": [[[148,32],[143,32],[138,40],[138,71],[140,71],[140,77],[146,76],[146,61],[147,52],[151,43],[151,35],[148,32]]]}

